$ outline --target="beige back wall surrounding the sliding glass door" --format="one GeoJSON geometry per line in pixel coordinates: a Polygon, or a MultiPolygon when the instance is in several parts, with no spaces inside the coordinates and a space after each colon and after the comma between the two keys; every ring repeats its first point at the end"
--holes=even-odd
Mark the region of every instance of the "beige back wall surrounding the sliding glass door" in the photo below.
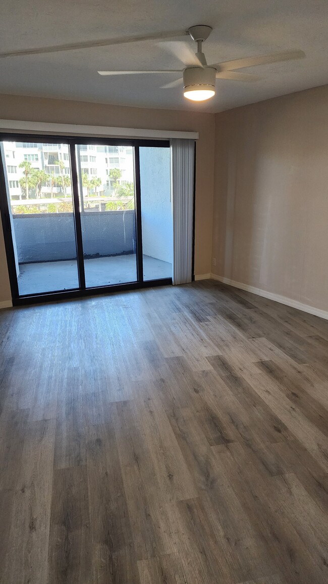
{"type": "MultiPolygon", "coordinates": [[[[195,274],[210,272],[214,114],[0,95],[0,119],[198,131],[199,140],[196,146],[195,274]]],[[[9,299],[8,270],[1,232],[0,302],[9,299]]]]}

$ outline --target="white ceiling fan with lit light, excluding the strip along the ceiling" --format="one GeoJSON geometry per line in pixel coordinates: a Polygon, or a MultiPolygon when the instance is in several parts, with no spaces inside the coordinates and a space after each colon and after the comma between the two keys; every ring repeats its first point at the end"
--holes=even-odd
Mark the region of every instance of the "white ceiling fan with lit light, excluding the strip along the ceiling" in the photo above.
{"type": "Polygon", "coordinates": [[[165,43],[185,67],[183,69],[164,69],[157,71],[98,71],[100,75],[137,75],[151,73],[182,73],[182,77],[175,79],[163,89],[175,87],[184,83],[184,95],[188,99],[203,101],[211,98],[215,94],[216,79],[231,79],[231,81],[257,81],[260,77],[246,73],[239,73],[235,69],[244,67],[255,67],[255,65],[266,65],[279,61],[289,61],[305,57],[305,53],[300,50],[285,51],[284,53],[271,53],[260,55],[259,57],[248,57],[207,65],[206,57],[202,51],[202,43],[208,39],[211,33],[211,26],[197,25],[191,26],[185,34],[189,34],[197,43],[197,51],[192,53],[188,45],[181,41],[171,41],[165,43]]]}

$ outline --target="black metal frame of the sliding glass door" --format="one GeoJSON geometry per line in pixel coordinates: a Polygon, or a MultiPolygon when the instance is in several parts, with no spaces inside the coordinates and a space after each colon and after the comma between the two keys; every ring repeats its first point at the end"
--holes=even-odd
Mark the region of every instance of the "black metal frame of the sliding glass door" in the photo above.
{"type": "Polygon", "coordinates": [[[52,300],[65,300],[66,298],[78,298],[83,296],[93,296],[94,294],[107,294],[119,290],[135,290],[136,288],[164,286],[172,284],[172,278],[158,280],[143,279],[143,255],[142,255],[142,218],[141,218],[141,189],[140,189],[140,161],[139,147],[170,148],[169,140],[155,140],[143,138],[107,138],[104,136],[85,137],[68,136],[58,134],[27,134],[27,133],[1,133],[0,142],[44,142],[53,144],[67,144],[70,155],[70,173],[72,178],[72,199],[73,217],[76,236],[76,256],[77,272],[79,275],[79,287],[70,290],[54,290],[52,292],[40,294],[19,294],[17,274],[15,269],[15,252],[13,248],[12,226],[10,222],[8,194],[5,181],[5,160],[0,155],[0,211],[2,217],[3,236],[5,238],[5,249],[8,263],[10,288],[12,293],[12,303],[14,306],[44,303],[52,300]],[[136,227],[136,281],[124,284],[112,284],[109,286],[97,286],[86,288],[83,257],[82,223],[79,200],[79,180],[77,174],[76,145],[105,145],[105,146],[131,146],[134,150],[134,172],[135,172],[135,227],[136,227]]]}

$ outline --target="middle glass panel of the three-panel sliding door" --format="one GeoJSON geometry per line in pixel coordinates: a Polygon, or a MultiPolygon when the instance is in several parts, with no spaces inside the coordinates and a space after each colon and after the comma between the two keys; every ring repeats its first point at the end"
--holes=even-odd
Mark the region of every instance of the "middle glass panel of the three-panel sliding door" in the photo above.
{"type": "Polygon", "coordinates": [[[136,281],[133,148],[76,145],[76,159],[86,287],[136,281]]]}

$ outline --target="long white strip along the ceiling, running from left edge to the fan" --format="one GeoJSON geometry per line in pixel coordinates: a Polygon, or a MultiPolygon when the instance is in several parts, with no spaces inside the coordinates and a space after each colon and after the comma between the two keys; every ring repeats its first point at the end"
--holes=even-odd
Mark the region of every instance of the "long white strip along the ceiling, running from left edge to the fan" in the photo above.
{"type": "Polygon", "coordinates": [[[117,37],[116,39],[103,39],[85,41],[84,43],[61,44],[50,47],[27,48],[21,51],[8,51],[0,53],[0,58],[21,57],[22,55],[42,55],[45,53],[59,53],[59,51],[75,51],[81,48],[110,47],[115,44],[137,43],[144,40],[172,39],[188,35],[185,30],[171,30],[163,33],[142,34],[141,36],[117,37]]]}

